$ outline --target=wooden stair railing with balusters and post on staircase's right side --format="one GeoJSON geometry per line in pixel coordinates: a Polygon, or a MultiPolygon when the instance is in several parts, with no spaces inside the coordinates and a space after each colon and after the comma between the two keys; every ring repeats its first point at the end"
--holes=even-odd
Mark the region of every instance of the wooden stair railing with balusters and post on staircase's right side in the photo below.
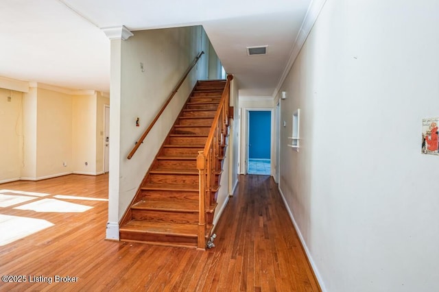
{"type": "Polygon", "coordinates": [[[215,187],[219,186],[216,179],[222,170],[221,159],[224,156],[223,149],[226,146],[226,136],[228,136],[231,80],[233,80],[233,75],[228,75],[206,145],[203,151],[198,151],[197,156],[197,168],[200,175],[198,215],[198,249],[200,250],[205,249],[206,236],[210,236],[206,234],[206,210],[215,208],[216,204],[215,187]]]}

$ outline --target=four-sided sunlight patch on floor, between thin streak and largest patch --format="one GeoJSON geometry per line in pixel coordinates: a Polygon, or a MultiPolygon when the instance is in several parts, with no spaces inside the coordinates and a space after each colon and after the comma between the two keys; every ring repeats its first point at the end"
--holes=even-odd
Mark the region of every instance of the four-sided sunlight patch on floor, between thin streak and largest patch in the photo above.
{"type": "Polygon", "coordinates": [[[85,212],[93,207],[63,202],[58,199],[41,199],[37,202],[25,204],[14,209],[33,210],[36,212],[85,212]]]}

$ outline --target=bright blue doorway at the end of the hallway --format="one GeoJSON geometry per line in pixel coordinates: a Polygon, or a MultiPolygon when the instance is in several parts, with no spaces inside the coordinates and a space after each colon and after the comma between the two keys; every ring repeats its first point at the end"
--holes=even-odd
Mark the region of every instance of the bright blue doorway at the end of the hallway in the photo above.
{"type": "Polygon", "coordinates": [[[272,112],[248,112],[248,174],[271,174],[271,121],[272,112]]]}

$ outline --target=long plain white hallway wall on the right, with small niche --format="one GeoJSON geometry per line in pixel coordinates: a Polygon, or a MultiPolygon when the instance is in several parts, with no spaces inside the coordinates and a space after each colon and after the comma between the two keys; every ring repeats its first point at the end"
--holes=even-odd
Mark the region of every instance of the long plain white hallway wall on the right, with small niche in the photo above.
{"type": "Polygon", "coordinates": [[[436,291],[439,2],[327,0],[281,90],[280,188],[327,291],[436,291]],[[286,147],[300,108],[298,152],[286,147]]]}

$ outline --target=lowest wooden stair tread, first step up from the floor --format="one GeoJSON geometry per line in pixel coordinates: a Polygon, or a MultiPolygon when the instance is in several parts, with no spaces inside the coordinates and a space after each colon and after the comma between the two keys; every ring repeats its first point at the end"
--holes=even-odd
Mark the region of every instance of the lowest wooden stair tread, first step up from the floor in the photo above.
{"type": "Polygon", "coordinates": [[[139,232],[197,237],[198,226],[195,224],[131,220],[124,226],[121,226],[119,230],[121,232],[139,232]]]}

